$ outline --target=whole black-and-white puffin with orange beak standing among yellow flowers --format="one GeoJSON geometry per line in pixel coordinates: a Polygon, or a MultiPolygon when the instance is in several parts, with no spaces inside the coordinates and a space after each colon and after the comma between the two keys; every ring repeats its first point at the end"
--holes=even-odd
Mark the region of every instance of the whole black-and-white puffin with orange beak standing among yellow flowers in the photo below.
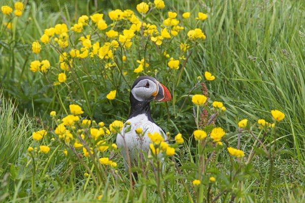
{"type": "MultiPolygon", "coordinates": [[[[171,94],[169,90],[155,78],[149,76],[138,77],[130,90],[130,114],[128,120],[116,137],[116,144],[121,148],[120,153],[124,158],[126,171],[128,170],[126,148],[128,149],[131,167],[139,166],[137,154],[140,154],[141,150],[147,154],[149,153],[149,144],[151,143],[150,138],[148,138],[147,135],[149,132],[151,134],[158,132],[164,137],[164,140],[167,140],[166,133],[154,122],[153,118],[151,118],[149,103],[153,100],[170,101],[171,94]],[[130,128],[130,130],[126,132],[128,128],[130,128]],[[136,133],[137,128],[143,130],[142,138],[136,133]]],[[[134,173],[134,176],[135,175],[136,173],[134,173]]]]}

